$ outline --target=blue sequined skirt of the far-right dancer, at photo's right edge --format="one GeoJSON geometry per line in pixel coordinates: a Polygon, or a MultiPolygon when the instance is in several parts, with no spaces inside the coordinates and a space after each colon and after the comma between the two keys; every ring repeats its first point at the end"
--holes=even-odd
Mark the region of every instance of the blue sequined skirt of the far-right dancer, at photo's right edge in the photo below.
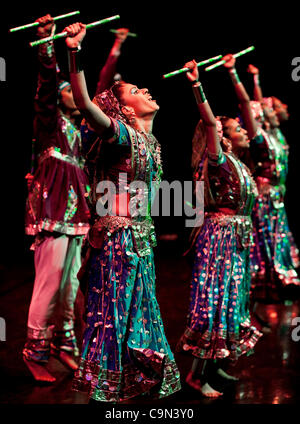
{"type": "Polygon", "coordinates": [[[253,297],[279,301],[281,290],[289,284],[299,286],[296,272],[299,251],[289,229],[284,203],[274,202],[272,192],[256,199],[252,213],[251,275],[253,297]]]}

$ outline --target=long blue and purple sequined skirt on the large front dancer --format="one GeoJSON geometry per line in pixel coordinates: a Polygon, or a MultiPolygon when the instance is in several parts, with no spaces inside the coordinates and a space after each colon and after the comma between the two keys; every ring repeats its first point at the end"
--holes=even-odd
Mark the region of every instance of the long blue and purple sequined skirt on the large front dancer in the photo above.
{"type": "Polygon", "coordinates": [[[93,249],[86,329],[73,389],[104,402],[171,395],[180,375],[155,295],[153,252],[137,255],[131,228],[93,249]]]}

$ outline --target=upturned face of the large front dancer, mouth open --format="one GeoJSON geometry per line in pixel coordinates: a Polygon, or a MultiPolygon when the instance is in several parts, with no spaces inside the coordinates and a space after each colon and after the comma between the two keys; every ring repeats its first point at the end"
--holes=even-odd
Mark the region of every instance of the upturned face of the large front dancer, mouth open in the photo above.
{"type": "Polygon", "coordinates": [[[142,118],[154,114],[159,106],[152,99],[147,88],[138,88],[136,85],[124,84],[122,89],[122,104],[134,109],[135,115],[142,118]]]}

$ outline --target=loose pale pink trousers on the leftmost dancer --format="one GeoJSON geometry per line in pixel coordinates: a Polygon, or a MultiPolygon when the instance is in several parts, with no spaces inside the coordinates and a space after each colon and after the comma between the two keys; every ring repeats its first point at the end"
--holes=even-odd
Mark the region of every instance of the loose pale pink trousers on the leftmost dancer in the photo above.
{"type": "Polygon", "coordinates": [[[74,327],[83,236],[47,234],[34,254],[35,281],[28,314],[30,339],[49,339],[52,331],[74,327]]]}

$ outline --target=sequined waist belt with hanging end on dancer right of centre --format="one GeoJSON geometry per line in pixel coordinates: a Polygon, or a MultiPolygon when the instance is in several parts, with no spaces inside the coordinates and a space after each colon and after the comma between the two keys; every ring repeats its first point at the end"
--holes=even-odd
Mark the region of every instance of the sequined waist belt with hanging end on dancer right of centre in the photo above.
{"type": "Polygon", "coordinates": [[[253,242],[252,219],[247,215],[226,215],[224,213],[208,213],[205,220],[218,223],[221,226],[233,224],[236,228],[240,247],[246,249],[253,242]]]}

